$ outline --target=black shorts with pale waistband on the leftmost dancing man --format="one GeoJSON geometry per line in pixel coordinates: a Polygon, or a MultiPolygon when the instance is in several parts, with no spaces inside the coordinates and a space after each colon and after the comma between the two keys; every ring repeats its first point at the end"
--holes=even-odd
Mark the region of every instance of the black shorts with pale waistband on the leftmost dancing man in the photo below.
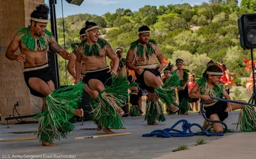
{"type": "Polygon", "coordinates": [[[53,82],[54,81],[53,73],[50,70],[48,63],[43,64],[41,66],[26,67],[26,68],[24,68],[23,74],[24,74],[25,82],[30,89],[31,95],[38,96],[38,97],[45,97],[45,95],[43,95],[42,93],[39,93],[35,89],[32,89],[29,86],[28,81],[30,78],[36,77],[36,78],[44,80],[46,83],[50,80],[52,80],[52,82],[53,82]]]}

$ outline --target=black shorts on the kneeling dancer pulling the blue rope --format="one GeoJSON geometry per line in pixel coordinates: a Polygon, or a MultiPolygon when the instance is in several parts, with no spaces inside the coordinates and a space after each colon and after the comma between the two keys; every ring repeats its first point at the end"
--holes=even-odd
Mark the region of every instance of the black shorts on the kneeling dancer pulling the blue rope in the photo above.
{"type": "Polygon", "coordinates": [[[204,107],[205,116],[210,119],[212,114],[217,114],[220,118],[220,121],[224,121],[228,117],[228,112],[225,112],[227,109],[227,102],[218,101],[212,106],[204,107]]]}

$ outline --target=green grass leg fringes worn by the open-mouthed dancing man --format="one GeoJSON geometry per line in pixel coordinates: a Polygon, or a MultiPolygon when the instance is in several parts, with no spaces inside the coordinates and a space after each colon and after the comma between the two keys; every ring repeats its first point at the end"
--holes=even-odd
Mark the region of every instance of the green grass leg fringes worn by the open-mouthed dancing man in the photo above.
{"type": "Polygon", "coordinates": [[[122,128],[122,118],[118,115],[118,107],[128,101],[128,84],[124,77],[113,80],[111,86],[99,93],[97,98],[90,99],[93,121],[106,128],[122,128]]]}

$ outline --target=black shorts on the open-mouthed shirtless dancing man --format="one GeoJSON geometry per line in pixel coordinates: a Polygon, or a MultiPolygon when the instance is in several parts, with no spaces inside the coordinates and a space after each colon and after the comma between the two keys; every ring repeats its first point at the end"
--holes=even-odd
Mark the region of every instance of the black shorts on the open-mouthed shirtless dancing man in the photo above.
{"type": "Polygon", "coordinates": [[[86,76],[83,78],[83,82],[84,82],[84,84],[87,84],[88,87],[90,87],[88,84],[89,80],[97,79],[97,80],[100,80],[100,82],[102,82],[102,84],[104,84],[104,86],[110,86],[113,82],[113,77],[110,74],[110,72],[108,73],[108,71],[109,71],[109,68],[106,67],[106,68],[100,69],[99,71],[95,70],[92,72],[91,71],[86,72],[86,76]]]}

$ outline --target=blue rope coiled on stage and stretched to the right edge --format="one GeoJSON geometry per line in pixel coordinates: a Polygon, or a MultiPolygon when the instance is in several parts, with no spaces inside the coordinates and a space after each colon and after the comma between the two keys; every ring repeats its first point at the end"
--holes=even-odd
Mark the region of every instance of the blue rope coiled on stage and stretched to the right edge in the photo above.
{"type": "MultiPolygon", "coordinates": [[[[216,98],[216,97],[211,97],[212,100],[220,100],[223,102],[230,102],[230,103],[238,103],[242,105],[250,105],[250,106],[255,106],[252,103],[244,103],[244,102],[238,102],[234,100],[226,100],[223,98],[216,98]]],[[[208,119],[205,114],[204,114],[204,101],[201,102],[201,112],[202,116],[204,119],[209,122],[209,123],[221,123],[225,128],[223,132],[208,132],[204,128],[202,128],[201,125],[198,125],[197,123],[188,123],[187,120],[181,119],[177,121],[171,128],[165,128],[164,130],[154,130],[150,133],[145,133],[142,136],[143,137],[152,137],[152,136],[157,136],[157,137],[164,137],[164,138],[169,138],[169,137],[192,137],[194,135],[207,135],[207,136],[223,136],[225,132],[227,132],[227,125],[223,123],[222,121],[218,120],[210,120],[208,119]],[[175,126],[179,125],[179,123],[182,123],[182,131],[175,129],[175,126]],[[200,132],[193,133],[191,131],[192,126],[198,126],[200,128],[200,132]]]]}

